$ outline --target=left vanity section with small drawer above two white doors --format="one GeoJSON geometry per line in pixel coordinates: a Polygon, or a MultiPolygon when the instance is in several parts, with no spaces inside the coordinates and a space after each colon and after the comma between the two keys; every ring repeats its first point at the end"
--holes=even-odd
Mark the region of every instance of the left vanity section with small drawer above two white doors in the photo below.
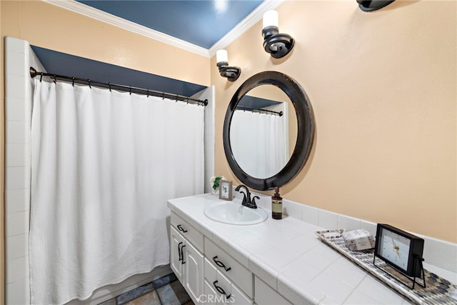
{"type": "Polygon", "coordinates": [[[204,293],[204,256],[202,250],[203,235],[181,217],[171,213],[171,269],[195,303],[198,303],[199,297],[204,293]]]}

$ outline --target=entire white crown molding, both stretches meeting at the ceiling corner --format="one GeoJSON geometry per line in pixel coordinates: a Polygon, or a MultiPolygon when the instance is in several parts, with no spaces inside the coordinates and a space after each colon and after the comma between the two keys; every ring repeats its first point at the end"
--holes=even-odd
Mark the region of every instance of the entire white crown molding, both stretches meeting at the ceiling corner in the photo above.
{"type": "Polygon", "coordinates": [[[112,14],[106,13],[99,9],[95,9],[91,6],[87,6],[86,4],[82,4],[78,1],[74,0],[42,0],[46,3],[59,6],[62,9],[67,9],[69,11],[74,11],[77,14],[81,14],[87,16],[92,19],[96,19],[107,24],[111,24],[113,26],[117,26],[121,29],[125,29],[127,31],[131,31],[136,34],[140,34],[142,36],[146,36],[151,39],[155,39],[165,44],[170,44],[171,46],[176,46],[178,48],[184,49],[186,51],[193,52],[195,54],[199,54],[201,56],[212,57],[216,54],[216,51],[219,49],[224,49],[226,46],[231,44],[232,41],[238,38],[241,34],[243,34],[246,30],[248,30],[253,24],[256,24],[258,20],[260,20],[263,14],[270,10],[276,8],[279,4],[281,4],[284,0],[266,0],[263,1],[256,9],[254,9],[251,14],[248,14],[245,19],[243,19],[239,24],[237,24],[229,33],[227,33],[224,37],[219,39],[211,48],[205,49],[201,46],[197,46],[195,44],[191,44],[187,41],[177,39],[176,37],[161,33],[159,31],[149,29],[146,26],[141,26],[136,24],[132,21],[128,21],[126,19],[122,19],[118,16],[114,16],[112,14]]]}

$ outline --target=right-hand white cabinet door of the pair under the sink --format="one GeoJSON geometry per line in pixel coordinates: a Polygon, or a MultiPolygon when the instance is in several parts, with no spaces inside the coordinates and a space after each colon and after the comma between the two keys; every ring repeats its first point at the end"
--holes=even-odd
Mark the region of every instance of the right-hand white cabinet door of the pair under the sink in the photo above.
{"type": "Polygon", "coordinates": [[[195,249],[191,243],[186,242],[184,247],[184,277],[185,286],[189,295],[198,300],[204,293],[204,258],[199,250],[195,249]]]}

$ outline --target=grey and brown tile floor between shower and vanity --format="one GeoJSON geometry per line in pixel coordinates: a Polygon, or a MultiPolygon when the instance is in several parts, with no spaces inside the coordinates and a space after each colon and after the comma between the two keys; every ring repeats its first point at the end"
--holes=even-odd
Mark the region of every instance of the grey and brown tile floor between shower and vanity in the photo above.
{"type": "Polygon", "coordinates": [[[120,296],[104,301],[99,305],[194,305],[189,294],[176,278],[167,276],[151,281],[151,283],[127,291],[120,296]]]}

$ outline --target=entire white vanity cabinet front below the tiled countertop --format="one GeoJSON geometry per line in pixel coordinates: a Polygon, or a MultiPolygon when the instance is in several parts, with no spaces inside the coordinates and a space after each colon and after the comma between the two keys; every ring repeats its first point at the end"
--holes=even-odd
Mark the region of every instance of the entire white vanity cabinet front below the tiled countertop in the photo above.
{"type": "Polygon", "coordinates": [[[290,304],[174,212],[170,264],[195,304],[290,304]]]}

